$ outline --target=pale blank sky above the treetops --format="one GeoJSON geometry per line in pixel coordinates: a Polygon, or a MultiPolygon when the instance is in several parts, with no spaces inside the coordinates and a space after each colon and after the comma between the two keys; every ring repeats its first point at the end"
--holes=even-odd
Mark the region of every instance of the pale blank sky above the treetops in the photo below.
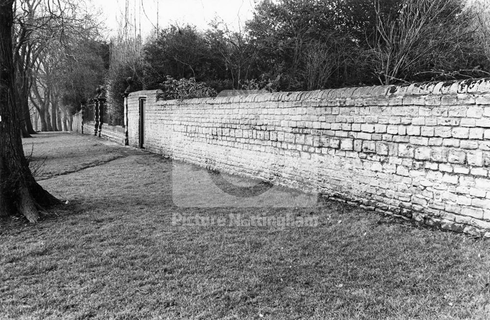
{"type": "Polygon", "coordinates": [[[156,28],[157,7],[159,28],[171,23],[189,23],[200,29],[206,29],[210,21],[219,17],[235,30],[247,19],[252,18],[254,7],[254,0],[102,0],[100,2],[95,0],[94,2],[101,9],[111,34],[116,33],[118,21],[121,21],[124,16],[127,2],[131,21],[134,23],[136,16],[138,27],[141,21],[143,36],[156,28]]]}

